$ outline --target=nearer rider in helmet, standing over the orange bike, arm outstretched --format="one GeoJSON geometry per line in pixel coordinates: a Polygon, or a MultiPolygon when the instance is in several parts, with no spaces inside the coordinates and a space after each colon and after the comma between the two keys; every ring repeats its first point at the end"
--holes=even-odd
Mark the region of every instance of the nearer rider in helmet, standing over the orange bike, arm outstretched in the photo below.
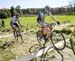
{"type": "Polygon", "coordinates": [[[51,17],[51,19],[53,21],[55,21],[57,24],[60,24],[51,14],[51,8],[49,6],[46,6],[44,9],[42,9],[37,17],[37,23],[40,24],[42,26],[42,33],[44,36],[46,36],[47,34],[47,25],[49,25],[47,22],[45,22],[45,16],[46,13],[49,14],[49,16],[51,17]]]}

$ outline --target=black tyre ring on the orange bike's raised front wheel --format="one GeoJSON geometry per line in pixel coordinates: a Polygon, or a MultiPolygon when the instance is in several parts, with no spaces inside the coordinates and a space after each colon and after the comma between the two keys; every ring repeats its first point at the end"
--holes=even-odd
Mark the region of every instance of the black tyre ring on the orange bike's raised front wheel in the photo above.
{"type": "MultiPolygon", "coordinates": [[[[56,39],[57,39],[57,38],[56,38],[56,39]]],[[[57,39],[57,40],[55,40],[55,41],[57,42],[58,40],[61,40],[61,39],[57,39]]],[[[63,49],[66,47],[65,37],[64,37],[64,35],[63,35],[61,32],[56,32],[56,31],[54,31],[54,32],[51,34],[51,43],[52,43],[53,47],[54,47],[55,49],[57,49],[57,50],[63,50],[63,49]],[[54,40],[53,40],[53,37],[54,37],[54,36],[57,37],[56,34],[58,34],[58,33],[59,33],[59,35],[62,37],[62,40],[64,41],[64,45],[63,45],[62,48],[56,47],[55,43],[53,42],[53,41],[54,41],[54,40]],[[54,34],[54,35],[53,35],[53,34],[54,34]]]]}

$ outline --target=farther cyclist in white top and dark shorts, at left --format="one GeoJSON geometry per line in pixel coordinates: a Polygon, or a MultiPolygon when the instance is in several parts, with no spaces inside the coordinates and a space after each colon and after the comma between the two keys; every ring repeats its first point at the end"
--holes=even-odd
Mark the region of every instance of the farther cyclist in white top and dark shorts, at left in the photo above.
{"type": "Polygon", "coordinates": [[[18,13],[16,13],[14,16],[12,16],[11,21],[10,21],[10,25],[13,29],[13,34],[15,36],[16,28],[20,30],[19,25],[21,25],[18,13]]]}

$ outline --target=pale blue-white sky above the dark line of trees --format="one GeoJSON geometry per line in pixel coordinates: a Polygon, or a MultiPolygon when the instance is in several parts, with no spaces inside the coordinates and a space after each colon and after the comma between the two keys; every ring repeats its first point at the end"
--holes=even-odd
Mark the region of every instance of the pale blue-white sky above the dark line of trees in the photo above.
{"type": "Polygon", "coordinates": [[[21,8],[43,8],[46,5],[50,7],[61,7],[69,4],[71,0],[0,0],[0,8],[10,8],[20,5],[21,8]]]}

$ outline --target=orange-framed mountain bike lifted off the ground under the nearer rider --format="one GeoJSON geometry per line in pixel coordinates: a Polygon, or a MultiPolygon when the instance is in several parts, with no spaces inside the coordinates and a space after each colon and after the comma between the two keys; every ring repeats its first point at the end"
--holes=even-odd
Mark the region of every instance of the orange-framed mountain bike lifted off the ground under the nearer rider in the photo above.
{"type": "Polygon", "coordinates": [[[45,35],[43,34],[42,30],[39,30],[37,32],[37,34],[36,34],[37,41],[39,44],[43,44],[43,45],[45,45],[47,42],[51,41],[52,45],[56,49],[63,50],[66,46],[65,37],[60,31],[54,30],[52,25],[53,24],[49,24],[47,26],[47,29],[49,29],[49,30],[47,30],[47,33],[45,35]],[[60,41],[64,42],[64,45],[62,48],[58,48],[55,45],[56,43],[58,43],[60,41]]]}

